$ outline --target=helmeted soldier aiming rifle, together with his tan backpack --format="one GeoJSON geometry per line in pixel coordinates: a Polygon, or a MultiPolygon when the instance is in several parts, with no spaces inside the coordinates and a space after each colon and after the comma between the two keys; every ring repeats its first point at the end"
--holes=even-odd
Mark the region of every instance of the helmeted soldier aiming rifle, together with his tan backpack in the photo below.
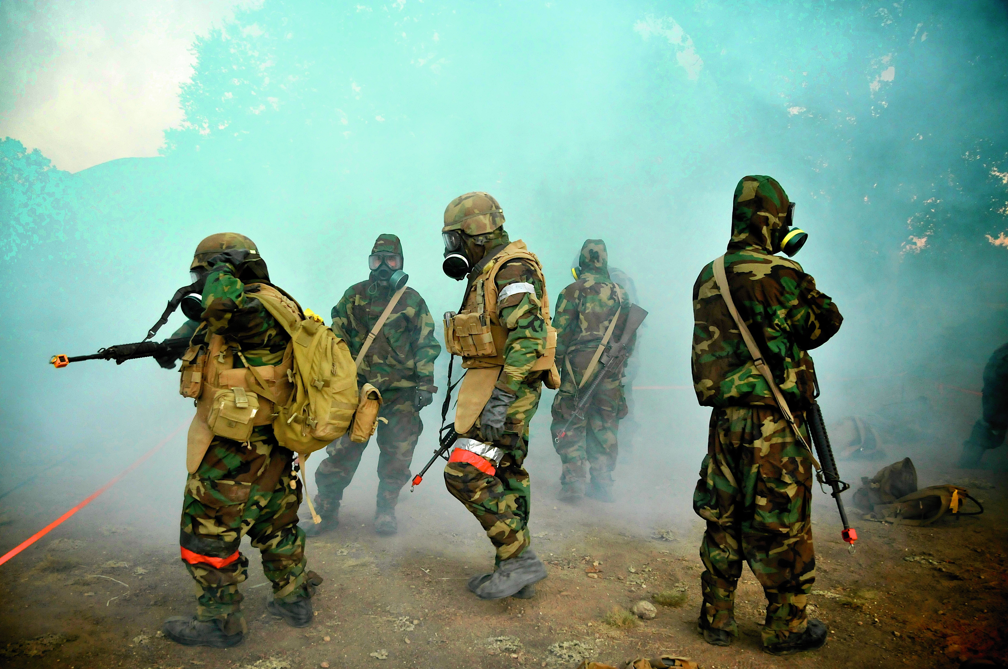
{"type": "Polygon", "coordinates": [[[208,237],[191,271],[194,286],[203,284],[205,310],[199,323],[190,320],[174,335],[191,337],[180,392],[197,400],[179,536],[182,562],[201,594],[196,616],[169,618],[163,632],[186,646],[227,648],[247,630],[238,590],[249,564],[239,550],[246,534],[273,584],[269,613],[292,627],[313,620],[310,597],[322,578],[307,570],[297,527],[303,488],[286,446],[309,452],[346,431],[357,387],[332,383],[352,370],[346,345],[270,282],[252,240],[208,237]],[[325,391],[306,390],[299,367],[306,369],[307,359],[298,351],[295,361],[288,330],[309,344],[299,349],[325,357],[325,391]],[[338,401],[348,408],[330,413],[338,401]]]}

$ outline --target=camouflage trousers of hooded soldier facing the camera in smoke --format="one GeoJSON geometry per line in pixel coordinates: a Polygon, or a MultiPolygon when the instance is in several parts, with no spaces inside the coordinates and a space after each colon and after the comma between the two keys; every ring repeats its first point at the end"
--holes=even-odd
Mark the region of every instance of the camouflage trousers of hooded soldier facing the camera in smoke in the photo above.
{"type": "MultiPolygon", "coordinates": [[[[399,491],[410,479],[413,449],[423,431],[420,414],[413,408],[414,395],[412,388],[382,393],[383,402],[378,416],[388,422],[378,422],[378,448],[381,451],[378,455],[379,511],[395,508],[399,491]]],[[[348,433],[327,446],[329,457],[316,470],[319,494],[314,497],[314,504],[320,514],[332,514],[340,507],[343,491],[353,480],[369,443],[370,439],[364,443],[351,441],[348,433]]]]}

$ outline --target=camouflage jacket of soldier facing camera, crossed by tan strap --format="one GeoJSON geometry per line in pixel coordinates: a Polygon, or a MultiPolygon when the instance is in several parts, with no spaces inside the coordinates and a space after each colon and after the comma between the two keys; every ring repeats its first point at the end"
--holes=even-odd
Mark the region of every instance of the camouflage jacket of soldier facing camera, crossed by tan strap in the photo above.
{"type": "MultiPolygon", "coordinates": [[[[388,306],[390,293],[387,286],[361,281],[347,288],[333,307],[333,331],[347,343],[355,359],[388,306]]],[[[420,294],[407,287],[361,361],[358,380],[378,390],[415,387],[433,393],[437,391],[434,361],[439,354],[430,311],[420,294]]]]}

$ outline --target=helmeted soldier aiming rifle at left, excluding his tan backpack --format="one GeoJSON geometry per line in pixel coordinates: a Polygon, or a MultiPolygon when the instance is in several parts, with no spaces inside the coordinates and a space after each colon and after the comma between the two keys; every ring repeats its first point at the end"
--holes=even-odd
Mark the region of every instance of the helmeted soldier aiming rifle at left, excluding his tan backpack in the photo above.
{"type": "MultiPolygon", "coordinates": [[[[262,554],[263,571],[273,583],[271,606],[300,610],[300,619],[310,616],[307,599],[322,582],[306,570],[304,533],[297,527],[302,485],[293,476],[294,454],[273,434],[272,404],[258,399],[247,440],[216,435],[209,426],[215,419],[227,423],[226,409],[218,406],[222,392],[234,405],[254,387],[250,367],[274,397],[289,396],[286,372],[291,361],[285,352],[290,337],[264,302],[301,317],[303,313],[268,282],[255,245],[241,235],[226,233],[204,240],[192,269],[206,273],[206,310],[202,322],[190,321],[173,336],[192,335],[194,346],[182,358],[180,389],[197,399],[179,536],[182,562],[202,593],[196,619],[169,620],[165,633],[187,645],[230,646],[241,641],[246,630],[238,591],[248,570],[248,558],[239,550],[246,534],[262,554]],[[216,626],[200,625],[208,622],[216,626]]],[[[253,401],[251,390],[248,395],[246,401],[253,401]]]]}

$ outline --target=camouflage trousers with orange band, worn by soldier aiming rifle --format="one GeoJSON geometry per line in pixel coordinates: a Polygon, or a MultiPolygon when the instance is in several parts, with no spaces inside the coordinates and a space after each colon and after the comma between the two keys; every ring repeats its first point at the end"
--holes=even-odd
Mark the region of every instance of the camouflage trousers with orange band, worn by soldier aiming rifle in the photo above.
{"type": "Polygon", "coordinates": [[[293,453],[267,425],[255,428],[250,446],[214,437],[185,482],[179,542],[182,562],[202,591],[197,618],[223,620],[228,634],[246,629],[238,591],[249,564],[238,550],[246,534],[262,553],[277,599],[310,596],[308,586],[321,582],[305,571],[304,532],[297,527],[301,482],[291,488],[292,462],[293,453]]]}

